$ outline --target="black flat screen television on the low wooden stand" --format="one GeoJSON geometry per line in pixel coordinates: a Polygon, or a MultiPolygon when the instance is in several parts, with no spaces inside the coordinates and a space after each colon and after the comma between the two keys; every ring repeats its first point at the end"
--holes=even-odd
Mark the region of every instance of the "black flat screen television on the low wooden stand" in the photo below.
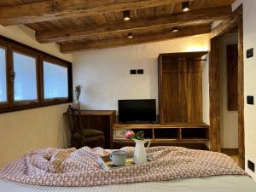
{"type": "Polygon", "coordinates": [[[119,100],[119,122],[145,123],[156,121],[155,99],[119,100]]]}

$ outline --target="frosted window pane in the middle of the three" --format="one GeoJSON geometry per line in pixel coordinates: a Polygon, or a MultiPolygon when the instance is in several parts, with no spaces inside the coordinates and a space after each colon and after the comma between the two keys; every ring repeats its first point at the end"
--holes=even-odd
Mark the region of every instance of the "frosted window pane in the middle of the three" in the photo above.
{"type": "Polygon", "coordinates": [[[14,52],[15,101],[38,100],[37,60],[14,52]]]}

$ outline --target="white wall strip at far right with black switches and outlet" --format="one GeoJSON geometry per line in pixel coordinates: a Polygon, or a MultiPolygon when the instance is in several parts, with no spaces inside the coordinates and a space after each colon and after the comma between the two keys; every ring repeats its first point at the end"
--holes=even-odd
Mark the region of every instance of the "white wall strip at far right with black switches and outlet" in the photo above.
{"type": "Polygon", "coordinates": [[[245,156],[246,171],[256,180],[256,173],[247,169],[247,160],[256,164],[256,106],[247,105],[246,96],[256,96],[256,57],[247,59],[246,50],[256,45],[256,1],[237,0],[233,4],[236,9],[243,3],[243,45],[244,45],[244,120],[245,120],[245,156]]]}

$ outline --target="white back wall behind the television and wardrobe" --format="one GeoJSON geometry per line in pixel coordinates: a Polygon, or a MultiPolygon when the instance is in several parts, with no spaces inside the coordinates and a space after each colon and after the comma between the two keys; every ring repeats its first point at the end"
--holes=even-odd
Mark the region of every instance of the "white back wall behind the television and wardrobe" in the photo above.
{"type": "MultiPolygon", "coordinates": [[[[118,109],[119,99],[157,99],[157,58],[160,53],[208,50],[208,35],[178,38],[153,44],[101,49],[73,54],[73,84],[82,84],[81,107],[118,109]],[[144,69],[130,75],[130,69],[144,69]]],[[[208,65],[204,67],[203,96],[208,97],[208,65]]],[[[209,102],[204,107],[208,108],[209,102]]],[[[209,110],[205,110],[209,122],[209,110]]]]}

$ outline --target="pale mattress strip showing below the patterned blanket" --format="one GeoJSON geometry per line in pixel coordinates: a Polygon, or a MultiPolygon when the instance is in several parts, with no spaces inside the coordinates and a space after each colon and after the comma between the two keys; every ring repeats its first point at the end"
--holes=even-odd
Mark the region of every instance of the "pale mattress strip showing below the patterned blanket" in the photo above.
{"type": "Polygon", "coordinates": [[[1,192],[256,192],[256,183],[246,176],[176,179],[167,182],[129,183],[99,187],[47,187],[0,179],[1,192]]]}

